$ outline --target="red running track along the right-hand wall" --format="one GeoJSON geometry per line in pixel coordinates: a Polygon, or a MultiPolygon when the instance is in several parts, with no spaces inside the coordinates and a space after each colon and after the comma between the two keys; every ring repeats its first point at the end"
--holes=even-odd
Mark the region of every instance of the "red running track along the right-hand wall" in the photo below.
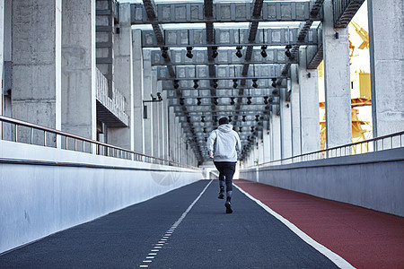
{"type": "Polygon", "coordinates": [[[404,268],[402,217],[242,179],[234,184],[356,268],[404,268]]]}

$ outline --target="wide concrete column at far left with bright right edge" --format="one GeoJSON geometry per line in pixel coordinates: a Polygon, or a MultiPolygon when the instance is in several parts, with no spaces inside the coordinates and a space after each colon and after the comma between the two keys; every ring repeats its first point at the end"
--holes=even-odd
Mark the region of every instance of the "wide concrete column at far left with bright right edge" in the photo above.
{"type": "Polygon", "coordinates": [[[62,0],[13,1],[13,117],[59,130],[61,11],[62,0]]]}

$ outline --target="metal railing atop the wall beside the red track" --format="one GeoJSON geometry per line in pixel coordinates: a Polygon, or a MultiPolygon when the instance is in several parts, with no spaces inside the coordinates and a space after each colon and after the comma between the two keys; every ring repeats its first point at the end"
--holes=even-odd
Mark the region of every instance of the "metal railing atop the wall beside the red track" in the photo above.
{"type": "Polygon", "coordinates": [[[356,143],[348,143],[345,145],[321,150],[318,152],[304,153],[301,155],[285,158],[282,160],[268,161],[251,167],[282,165],[295,162],[316,161],[336,157],[352,156],[368,152],[381,152],[384,150],[401,148],[403,147],[403,145],[404,145],[404,131],[394,134],[383,135],[380,137],[375,137],[373,139],[368,139],[356,143]]]}

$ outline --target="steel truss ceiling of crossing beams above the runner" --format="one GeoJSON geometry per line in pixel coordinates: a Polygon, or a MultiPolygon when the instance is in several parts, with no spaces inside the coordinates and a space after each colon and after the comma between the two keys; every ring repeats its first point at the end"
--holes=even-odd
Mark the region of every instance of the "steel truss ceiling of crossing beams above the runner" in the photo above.
{"type": "MultiPolygon", "coordinates": [[[[281,100],[290,98],[286,80],[301,46],[308,68],[320,64],[323,1],[131,4],[132,24],[152,25],[142,30],[142,46],[152,49],[162,90],[200,162],[208,161],[206,137],[220,117],[232,119],[242,139],[240,157],[247,156],[271,127],[269,117],[280,115],[281,100]],[[178,26],[164,30],[166,23],[178,26]]],[[[363,1],[335,0],[334,24],[346,26],[363,1]]]]}

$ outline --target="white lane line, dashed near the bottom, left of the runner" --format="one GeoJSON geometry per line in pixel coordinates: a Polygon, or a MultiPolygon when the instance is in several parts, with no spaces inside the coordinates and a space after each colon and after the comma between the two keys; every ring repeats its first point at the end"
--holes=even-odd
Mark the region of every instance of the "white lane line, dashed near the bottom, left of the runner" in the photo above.
{"type": "Polygon", "coordinates": [[[167,244],[167,240],[171,237],[174,230],[180,225],[181,221],[184,220],[185,216],[187,216],[187,214],[192,209],[194,204],[197,204],[199,198],[205,193],[206,188],[209,187],[212,181],[213,180],[210,180],[209,183],[207,183],[206,187],[202,190],[202,192],[198,195],[198,197],[194,200],[194,202],[192,202],[192,204],[189,204],[187,210],[184,213],[182,213],[180,219],[175,221],[174,224],[171,226],[171,228],[164,233],[162,239],[160,239],[158,243],[154,244],[153,249],[150,250],[150,253],[145,257],[145,260],[142,262],[143,264],[139,266],[140,268],[149,267],[150,263],[152,263],[153,259],[157,256],[158,251],[164,246],[164,244],[167,244]]]}

